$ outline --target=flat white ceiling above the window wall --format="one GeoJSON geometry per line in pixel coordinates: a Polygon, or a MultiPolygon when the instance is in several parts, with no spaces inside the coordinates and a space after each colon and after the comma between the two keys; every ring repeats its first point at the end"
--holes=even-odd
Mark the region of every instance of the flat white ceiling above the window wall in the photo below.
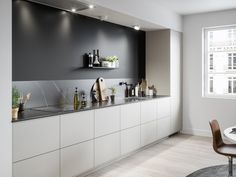
{"type": "MultiPolygon", "coordinates": [[[[147,2],[148,0],[145,0],[147,2]]],[[[236,9],[236,0],[150,0],[180,15],[236,9]]]]}

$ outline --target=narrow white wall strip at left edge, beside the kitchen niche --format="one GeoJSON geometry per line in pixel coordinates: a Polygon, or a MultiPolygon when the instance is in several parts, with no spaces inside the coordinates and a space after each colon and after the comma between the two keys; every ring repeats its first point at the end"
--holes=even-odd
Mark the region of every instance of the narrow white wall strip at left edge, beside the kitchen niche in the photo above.
{"type": "Polygon", "coordinates": [[[0,176],[12,176],[11,0],[0,1],[0,176]]]}

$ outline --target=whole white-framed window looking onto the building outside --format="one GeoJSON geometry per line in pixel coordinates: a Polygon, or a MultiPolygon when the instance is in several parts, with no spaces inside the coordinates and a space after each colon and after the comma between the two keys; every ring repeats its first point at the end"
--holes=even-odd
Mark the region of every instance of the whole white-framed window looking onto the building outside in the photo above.
{"type": "Polygon", "coordinates": [[[236,98],[236,25],[203,29],[203,95],[236,98]]]}

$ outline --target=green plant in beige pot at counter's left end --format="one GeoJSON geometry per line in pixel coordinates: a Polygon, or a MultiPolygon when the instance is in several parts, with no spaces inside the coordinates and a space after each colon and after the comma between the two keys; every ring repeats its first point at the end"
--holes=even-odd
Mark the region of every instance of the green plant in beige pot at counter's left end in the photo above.
{"type": "Polygon", "coordinates": [[[12,118],[18,118],[20,92],[16,87],[12,88],[12,118]]]}

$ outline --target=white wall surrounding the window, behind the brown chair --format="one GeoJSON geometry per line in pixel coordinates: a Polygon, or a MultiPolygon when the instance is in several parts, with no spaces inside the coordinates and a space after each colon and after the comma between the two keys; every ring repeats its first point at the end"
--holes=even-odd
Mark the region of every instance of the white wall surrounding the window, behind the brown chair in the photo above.
{"type": "Polygon", "coordinates": [[[236,125],[236,100],[201,96],[202,28],[236,24],[236,10],[185,16],[183,24],[183,132],[210,135],[210,119],[236,125]]]}

